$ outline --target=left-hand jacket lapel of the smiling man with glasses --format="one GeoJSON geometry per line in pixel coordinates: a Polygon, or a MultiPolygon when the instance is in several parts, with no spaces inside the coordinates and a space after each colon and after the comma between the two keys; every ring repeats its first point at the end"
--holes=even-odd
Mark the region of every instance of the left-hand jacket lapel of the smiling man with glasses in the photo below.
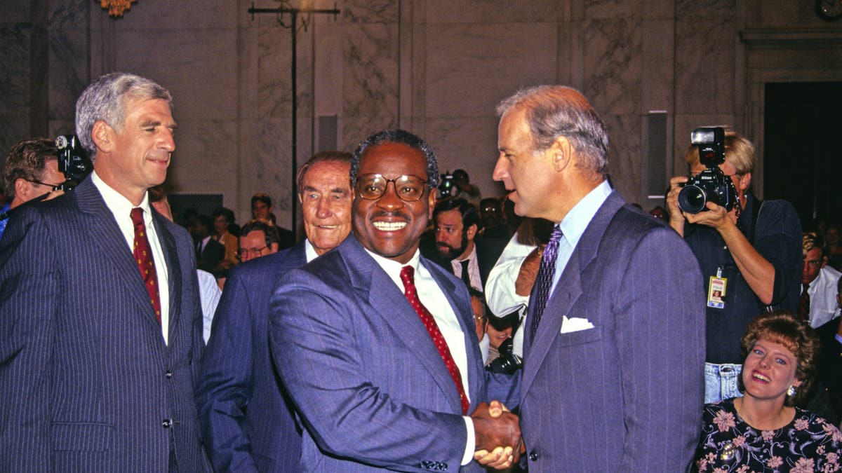
{"type": "MultiPolygon", "coordinates": [[[[459,394],[454,388],[450,372],[442,362],[439,350],[432,343],[429,332],[402,290],[397,288],[389,275],[365,252],[356,238],[348,237],[342,247],[352,269],[351,283],[354,290],[357,290],[363,299],[368,300],[371,306],[366,316],[381,316],[386,324],[392,327],[394,336],[415,353],[419,364],[429,372],[435,384],[447,393],[453,412],[461,412],[459,394]],[[377,290],[371,291],[371,288],[377,290]]],[[[429,268],[429,265],[425,268],[429,268]]]]}

